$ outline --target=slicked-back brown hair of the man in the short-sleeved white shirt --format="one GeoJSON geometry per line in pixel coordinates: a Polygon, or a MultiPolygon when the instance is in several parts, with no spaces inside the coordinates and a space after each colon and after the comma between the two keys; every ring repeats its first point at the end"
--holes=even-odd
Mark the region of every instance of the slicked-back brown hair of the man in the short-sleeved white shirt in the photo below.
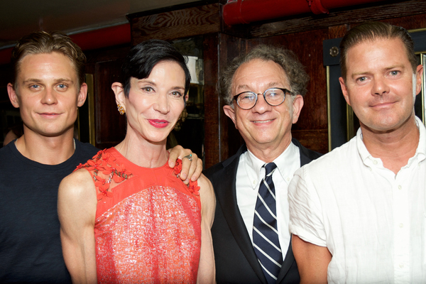
{"type": "Polygon", "coordinates": [[[348,50],[353,48],[355,45],[362,43],[366,40],[381,39],[393,39],[399,38],[404,46],[407,53],[408,60],[410,60],[413,72],[417,68],[417,58],[414,52],[413,39],[405,28],[400,26],[393,26],[390,23],[382,22],[365,22],[359,26],[351,28],[340,43],[340,67],[342,69],[342,77],[346,80],[347,66],[346,66],[346,55],[348,50]]]}

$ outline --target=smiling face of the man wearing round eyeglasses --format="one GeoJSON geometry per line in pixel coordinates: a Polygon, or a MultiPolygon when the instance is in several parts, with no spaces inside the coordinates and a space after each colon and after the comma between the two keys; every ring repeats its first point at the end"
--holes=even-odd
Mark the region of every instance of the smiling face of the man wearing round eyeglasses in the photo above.
{"type": "MultiPolygon", "coordinates": [[[[245,91],[261,94],[271,87],[291,89],[285,71],[271,60],[254,59],[236,70],[231,96],[245,91]]],[[[300,94],[293,98],[287,95],[283,104],[272,107],[266,103],[263,95],[258,95],[258,102],[252,109],[240,109],[235,101],[233,104],[234,108],[224,106],[224,111],[234,121],[247,148],[252,152],[275,148],[282,153],[290,144],[291,126],[299,117],[303,99],[300,94]]]]}

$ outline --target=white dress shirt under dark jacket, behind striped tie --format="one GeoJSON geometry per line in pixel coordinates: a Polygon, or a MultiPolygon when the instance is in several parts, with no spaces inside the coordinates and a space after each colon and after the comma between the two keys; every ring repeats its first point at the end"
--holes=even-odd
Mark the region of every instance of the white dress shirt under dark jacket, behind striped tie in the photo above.
{"type": "MultiPolygon", "coordinates": [[[[290,244],[288,230],[288,185],[295,171],[300,168],[300,152],[295,144],[290,145],[274,161],[277,170],[273,172],[272,180],[275,186],[277,209],[278,239],[280,241],[283,259],[290,244]]],[[[253,216],[261,180],[265,178],[265,162],[256,158],[253,153],[246,151],[239,158],[236,171],[236,201],[247,231],[253,243],[253,216]]]]}

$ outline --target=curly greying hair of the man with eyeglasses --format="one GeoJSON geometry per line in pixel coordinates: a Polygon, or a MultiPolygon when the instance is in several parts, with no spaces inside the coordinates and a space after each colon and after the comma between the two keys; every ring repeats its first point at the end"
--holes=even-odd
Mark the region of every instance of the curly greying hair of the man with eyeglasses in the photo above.
{"type": "Polygon", "coordinates": [[[222,95],[226,104],[232,106],[231,87],[236,70],[242,64],[254,59],[264,61],[271,60],[280,65],[290,82],[290,91],[293,92],[293,94],[306,94],[309,76],[305,72],[305,67],[297,59],[295,53],[285,48],[278,48],[271,45],[258,45],[246,55],[240,55],[234,58],[231,64],[222,72],[217,83],[217,91],[222,95]]]}

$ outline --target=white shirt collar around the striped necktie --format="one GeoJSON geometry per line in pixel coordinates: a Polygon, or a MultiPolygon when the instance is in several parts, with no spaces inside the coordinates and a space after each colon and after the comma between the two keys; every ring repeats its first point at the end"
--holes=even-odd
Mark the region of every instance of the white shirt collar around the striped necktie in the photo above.
{"type": "MultiPolygon", "coordinates": [[[[278,158],[273,160],[273,163],[277,165],[277,170],[280,175],[285,178],[286,176],[293,176],[293,173],[300,168],[300,155],[299,148],[290,142],[290,145],[285,149],[278,158]]],[[[258,180],[260,182],[265,177],[265,169],[263,165],[265,162],[256,157],[250,150],[247,150],[243,155],[245,155],[245,168],[246,173],[249,176],[250,180],[258,180]]],[[[275,172],[277,171],[275,170],[275,172]]],[[[254,186],[253,188],[256,188],[254,186]]]]}

